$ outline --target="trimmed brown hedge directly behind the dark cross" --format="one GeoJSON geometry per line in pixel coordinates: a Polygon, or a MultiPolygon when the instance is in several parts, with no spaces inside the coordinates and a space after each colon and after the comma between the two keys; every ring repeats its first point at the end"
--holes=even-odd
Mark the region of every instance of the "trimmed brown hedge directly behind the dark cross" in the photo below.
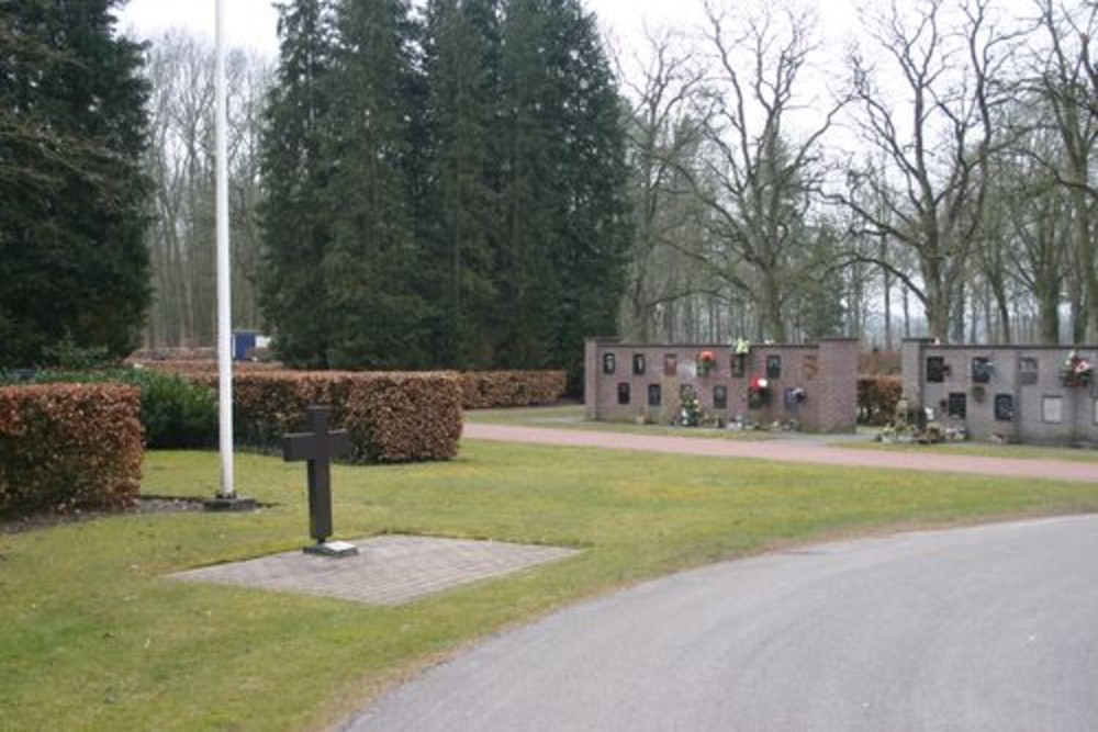
{"type": "MultiPolygon", "coordinates": [[[[197,378],[199,379],[199,378],[197,378]]],[[[216,376],[205,378],[216,386],[216,376]]],[[[450,373],[254,371],[233,379],[238,438],[271,449],[305,428],[305,409],[332,406],[351,435],[355,462],[449,460],[461,438],[461,394],[450,373]]]]}

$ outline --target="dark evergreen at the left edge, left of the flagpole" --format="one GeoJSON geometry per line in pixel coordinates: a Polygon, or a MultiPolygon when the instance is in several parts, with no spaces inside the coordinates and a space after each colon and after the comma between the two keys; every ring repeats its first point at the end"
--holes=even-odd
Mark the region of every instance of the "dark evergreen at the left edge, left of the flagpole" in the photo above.
{"type": "Polygon", "coordinates": [[[139,337],[148,90],[116,4],[0,3],[0,364],[139,337]]]}

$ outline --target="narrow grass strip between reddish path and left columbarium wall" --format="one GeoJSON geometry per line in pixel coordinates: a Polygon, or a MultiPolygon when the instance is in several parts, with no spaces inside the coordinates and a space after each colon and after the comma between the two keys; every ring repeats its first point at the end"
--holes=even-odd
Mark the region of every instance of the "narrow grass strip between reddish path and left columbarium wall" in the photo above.
{"type": "Polygon", "coordinates": [[[712,427],[671,427],[670,425],[637,425],[634,423],[593,421],[583,416],[583,405],[557,407],[511,407],[507,409],[468,409],[466,421],[512,427],[548,427],[554,429],[585,429],[603,432],[630,432],[673,437],[698,437],[722,440],[772,440],[773,435],[762,431],[733,431],[712,427]]]}

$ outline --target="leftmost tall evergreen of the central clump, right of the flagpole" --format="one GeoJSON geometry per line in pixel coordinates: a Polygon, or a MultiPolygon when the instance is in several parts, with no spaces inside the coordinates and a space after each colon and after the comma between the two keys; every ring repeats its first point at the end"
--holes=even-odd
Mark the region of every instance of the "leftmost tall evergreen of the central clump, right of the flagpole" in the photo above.
{"type": "Polygon", "coordinates": [[[325,0],[293,0],[279,12],[280,61],[267,99],[260,161],[260,306],[282,360],[324,367],[332,342],[322,267],[332,240],[325,190],[332,164],[322,147],[330,131],[332,16],[325,0]]]}

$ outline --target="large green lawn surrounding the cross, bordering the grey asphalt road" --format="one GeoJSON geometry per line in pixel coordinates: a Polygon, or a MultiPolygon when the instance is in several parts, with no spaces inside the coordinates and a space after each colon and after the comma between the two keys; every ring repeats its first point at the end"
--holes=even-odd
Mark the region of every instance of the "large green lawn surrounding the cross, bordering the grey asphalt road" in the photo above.
{"type": "MultiPolygon", "coordinates": [[[[147,494],[208,496],[214,453],[147,455],[147,494]]],[[[413,532],[585,549],[397,608],[177,583],[305,541],[304,469],[240,455],[251,515],[126,516],[0,534],[0,729],[302,730],[562,604],[770,547],[1098,510],[1098,483],[467,441],[450,463],[336,468],[340,538],[413,532]]]]}

